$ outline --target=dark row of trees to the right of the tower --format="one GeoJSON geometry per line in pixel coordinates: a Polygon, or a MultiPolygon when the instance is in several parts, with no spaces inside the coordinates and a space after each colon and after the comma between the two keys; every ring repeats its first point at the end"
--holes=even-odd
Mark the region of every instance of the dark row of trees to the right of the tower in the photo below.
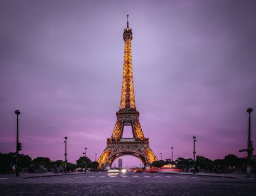
{"type": "MultiPolygon", "coordinates": [[[[177,168],[182,170],[187,170],[193,168],[193,159],[185,159],[183,157],[178,157],[175,161],[171,159],[165,159],[165,161],[154,161],[152,167],[162,167],[167,164],[175,164],[177,168]]],[[[254,162],[251,163],[254,166],[254,162]]],[[[239,158],[234,154],[229,154],[224,157],[224,159],[211,160],[203,156],[196,156],[195,161],[196,167],[206,170],[206,172],[216,172],[216,170],[224,171],[225,169],[240,169],[241,171],[246,170],[247,159],[239,158]]]]}

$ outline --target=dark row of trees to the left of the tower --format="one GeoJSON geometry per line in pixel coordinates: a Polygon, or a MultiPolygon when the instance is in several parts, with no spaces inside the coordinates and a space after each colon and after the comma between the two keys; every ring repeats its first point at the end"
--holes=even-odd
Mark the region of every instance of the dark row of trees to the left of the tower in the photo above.
{"type": "MultiPolygon", "coordinates": [[[[10,173],[12,172],[13,165],[16,165],[17,156],[15,152],[10,152],[7,154],[0,153],[0,173],[10,173]]],[[[43,165],[46,169],[54,169],[55,166],[64,167],[65,162],[63,160],[51,161],[48,157],[36,157],[32,159],[29,155],[19,154],[18,156],[20,168],[39,169],[40,165],[43,165]]],[[[92,162],[88,157],[80,157],[76,160],[76,164],[67,162],[67,168],[74,170],[76,168],[84,168],[86,160],[87,168],[97,168],[98,163],[96,161],[92,162]]]]}

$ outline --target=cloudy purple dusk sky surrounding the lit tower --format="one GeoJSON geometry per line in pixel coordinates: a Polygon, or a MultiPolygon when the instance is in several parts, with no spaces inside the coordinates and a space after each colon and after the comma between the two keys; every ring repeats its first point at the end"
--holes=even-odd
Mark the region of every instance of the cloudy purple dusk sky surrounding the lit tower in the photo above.
{"type": "MultiPolygon", "coordinates": [[[[126,15],[140,123],[160,159],[224,158],[256,143],[256,1],[1,0],[0,152],[95,160],[112,134],[126,15]]],[[[124,136],[131,136],[125,130],[124,136]]],[[[126,156],[124,166],[140,164],[126,156]]],[[[115,161],[116,163],[116,161],[115,161]]]]}

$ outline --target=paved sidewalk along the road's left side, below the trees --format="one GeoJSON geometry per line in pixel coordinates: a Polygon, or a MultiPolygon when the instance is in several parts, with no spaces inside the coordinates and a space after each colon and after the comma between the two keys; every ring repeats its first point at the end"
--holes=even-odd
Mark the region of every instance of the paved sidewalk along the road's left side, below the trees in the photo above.
{"type": "MultiPolygon", "coordinates": [[[[94,173],[94,172],[86,172],[86,173],[94,173]]],[[[73,173],[58,173],[54,174],[54,172],[46,172],[46,173],[20,173],[18,177],[16,174],[0,174],[0,179],[27,179],[27,178],[35,178],[35,177],[50,177],[50,176],[60,176],[60,175],[79,175],[86,174],[85,172],[73,172],[73,173]]]]}

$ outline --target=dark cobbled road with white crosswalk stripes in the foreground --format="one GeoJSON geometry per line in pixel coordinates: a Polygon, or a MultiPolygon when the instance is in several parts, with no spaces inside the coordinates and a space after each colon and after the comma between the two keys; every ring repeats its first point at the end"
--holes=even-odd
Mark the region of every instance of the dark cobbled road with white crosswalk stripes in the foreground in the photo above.
{"type": "Polygon", "coordinates": [[[0,179],[1,196],[256,196],[256,179],[98,172],[0,179]]]}

